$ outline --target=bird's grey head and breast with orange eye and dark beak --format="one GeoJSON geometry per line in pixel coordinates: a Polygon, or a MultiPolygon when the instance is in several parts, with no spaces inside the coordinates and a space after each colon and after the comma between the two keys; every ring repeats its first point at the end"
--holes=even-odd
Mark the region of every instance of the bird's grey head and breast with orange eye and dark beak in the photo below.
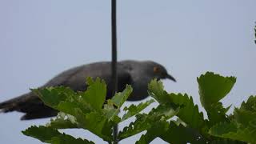
{"type": "Polygon", "coordinates": [[[147,98],[148,84],[154,78],[158,80],[168,78],[176,82],[175,78],[167,73],[166,68],[157,62],[126,60],[120,64],[130,74],[130,85],[134,89],[128,98],[129,101],[147,98]]]}

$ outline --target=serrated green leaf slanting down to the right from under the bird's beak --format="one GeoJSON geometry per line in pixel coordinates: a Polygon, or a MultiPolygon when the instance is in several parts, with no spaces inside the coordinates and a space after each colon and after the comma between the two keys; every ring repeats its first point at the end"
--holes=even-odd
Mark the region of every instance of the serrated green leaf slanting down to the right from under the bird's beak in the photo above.
{"type": "Polygon", "coordinates": [[[153,80],[149,85],[149,93],[158,100],[158,102],[169,103],[174,109],[179,108],[178,118],[181,118],[188,126],[206,133],[206,122],[202,112],[199,112],[198,106],[194,105],[193,98],[187,94],[168,94],[163,90],[162,82],[153,80]],[[164,102],[163,102],[164,101],[164,102]]]}

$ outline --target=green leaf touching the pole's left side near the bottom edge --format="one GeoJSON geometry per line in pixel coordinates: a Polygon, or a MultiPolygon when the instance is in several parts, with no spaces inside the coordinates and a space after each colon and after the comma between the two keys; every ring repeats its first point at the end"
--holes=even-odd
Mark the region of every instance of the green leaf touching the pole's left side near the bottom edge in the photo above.
{"type": "MultiPolygon", "coordinates": [[[[70,105],[70,102],[61,102],[58,106],[58,110],[66,112],[66,114],[71,114],[72,116],[68,119],[58,118],[58,123],[51,122],[50,126],[55,126],[60,128],[65,124],[68,124],[71,128],[76,124],[78,127],[90,130],[90,132],[98,135],[98,137],[110,142],[112,140],[112,130],[111,122],[107,121],[106,115],[102,114],[101,111],[82,111],[79,107],[75,105],[70,105]],[[71,122],[71,123],[70,123],[71,122]],[[73,122],[73,123],[72,123],[73,122]],[[107,128],[106,128],[107,127],[107,128]]],[[[63,126],[63,128],[69,128],[68,126],[63,126]]]]}

